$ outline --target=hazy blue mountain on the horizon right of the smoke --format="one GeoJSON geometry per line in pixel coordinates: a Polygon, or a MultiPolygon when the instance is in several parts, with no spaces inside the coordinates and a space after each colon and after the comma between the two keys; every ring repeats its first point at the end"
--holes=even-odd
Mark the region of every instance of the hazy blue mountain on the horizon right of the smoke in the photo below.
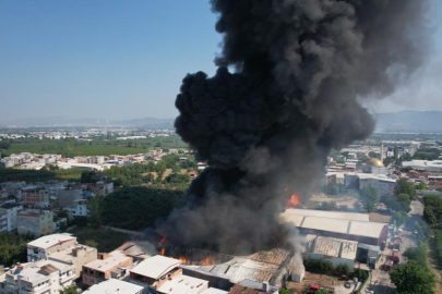
{"type": "Polygon", "coordinates": [[[377,131],[442,132],[442,111],[413,111],[373,114],[377,131]]]}

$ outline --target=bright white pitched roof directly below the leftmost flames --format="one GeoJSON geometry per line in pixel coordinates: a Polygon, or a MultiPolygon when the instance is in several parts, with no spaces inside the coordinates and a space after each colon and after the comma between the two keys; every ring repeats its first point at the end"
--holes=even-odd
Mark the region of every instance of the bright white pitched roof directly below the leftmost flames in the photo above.
{"type": "Polygon", "coordinates": [[[131,272],[156,280],[179,265],[181,261],[178,259],[156,255],[141,261],[131,272]]]}

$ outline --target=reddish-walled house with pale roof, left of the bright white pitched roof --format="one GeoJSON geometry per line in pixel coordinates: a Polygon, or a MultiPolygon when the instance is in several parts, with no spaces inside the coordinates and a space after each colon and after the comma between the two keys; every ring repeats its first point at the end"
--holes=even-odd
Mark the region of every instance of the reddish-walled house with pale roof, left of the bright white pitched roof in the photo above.
{"type": "Polygon", "coordinates": [[[92,286],[111,278],[112,271],[120,267],[132,266],[132,258],[120,250],[109,254],[98,254],[98,259],[83,266],[82,282],[92,286]]]}

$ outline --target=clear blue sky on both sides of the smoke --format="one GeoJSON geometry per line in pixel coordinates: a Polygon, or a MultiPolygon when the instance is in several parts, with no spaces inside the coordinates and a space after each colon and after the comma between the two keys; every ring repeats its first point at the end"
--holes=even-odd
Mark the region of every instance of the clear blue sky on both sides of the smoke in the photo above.
{"type": "MultiPolygon", "coordinates": [[[[431,1],[428,65],[370,109],[442,110],[442,1],[431,1]]],[[[11,111],[0,119],[172,118],[183,76],[215,72],[215,22],[203,0],[2,0],[0,103],[11,111]]]]}

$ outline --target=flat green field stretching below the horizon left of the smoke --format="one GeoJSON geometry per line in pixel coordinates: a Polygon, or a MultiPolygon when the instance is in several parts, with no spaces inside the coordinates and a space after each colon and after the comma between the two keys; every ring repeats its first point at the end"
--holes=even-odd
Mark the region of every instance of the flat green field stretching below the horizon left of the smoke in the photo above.
{"type": "Polygon", "coordinates": [[[179,136],[155,137],[134,140],[94,139],[37,139],[25,138],[11,142],[8,149],[0,149],[2,156],[11,154],[61,154],[63,157],[74,156],[109,156],[145,154],[153,148],[188,148],[179,136]]]}

